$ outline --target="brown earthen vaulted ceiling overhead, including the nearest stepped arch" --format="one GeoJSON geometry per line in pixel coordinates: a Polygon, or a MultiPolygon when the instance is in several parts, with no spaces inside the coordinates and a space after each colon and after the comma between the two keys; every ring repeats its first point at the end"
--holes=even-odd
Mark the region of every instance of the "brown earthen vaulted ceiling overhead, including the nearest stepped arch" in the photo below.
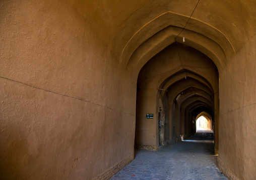
{"type": "MultiPolygon", "coordinates": [[[[102,42],[110,47],[111,52],[124,66],[129,63],[139,47],[146,45],[146,41],[152,41],[154,44],[151,45],[151,55],[148,55],[142,65],[164,47],[173,43],[175,36],[184,28],[195,8],[180,37],[185,36],[187,45],[213,59],[219,70],[225,64],[223,57],[232,56],[239,51],[242,44],[253,35],[255,27],[253,24],[255,10],[252,9],[255,7],[254,1],[67,1],[67,3],[72,4],[81,16],[90,15],[86,17],[88,23],[93,24],[92,27],[98,35],[101,35],[102,42]],[[172,31],[159,35],[170,27],[173,28],[172,31]],[[166,36],[171,39],[170,43],[164,42],[166,36]],[[209,44],[212,46],[210,47],[209,44]]],[[[178,37],[177,41],[180,42],[182,39],[178,37]]],[[[145,52],[149,51],[149,47],[146,49],[139,49],[139,54],[150,54],[145,52]]],[[[136,66],[136,63],[133,66],[136,66]]]]}

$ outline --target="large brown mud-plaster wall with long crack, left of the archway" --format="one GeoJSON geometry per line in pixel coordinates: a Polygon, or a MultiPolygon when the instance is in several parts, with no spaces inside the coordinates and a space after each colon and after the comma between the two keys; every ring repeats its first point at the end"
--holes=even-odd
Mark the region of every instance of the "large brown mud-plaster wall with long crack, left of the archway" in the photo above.
{"type": "Polygon", "coordinates": [[[93,179],[133,155],[137,78],[99,22],[66,1],[0,12],[0,179],[93,179]]]}

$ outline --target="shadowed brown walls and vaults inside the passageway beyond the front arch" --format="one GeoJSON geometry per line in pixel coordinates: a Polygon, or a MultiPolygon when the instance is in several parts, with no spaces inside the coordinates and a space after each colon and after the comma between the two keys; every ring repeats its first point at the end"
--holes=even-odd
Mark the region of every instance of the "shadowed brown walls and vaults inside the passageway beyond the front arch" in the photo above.
{"type": "MultiPolygon", "coordinates": [[[[218,70],[209,57],[173,43],[155,55],[138,77],[135,147],[157,150],[196,133],[196,117],[218,118],[218,70]],[[146,118],[154,114],[155,118],[146,118]]],[[[216,126],[215,126],[216,127],[216,126]]],[[[218,130],[215,131],[218,137],[218,130]]],[[[218,139],[215,142],[218,153],[218,139]]]]}

